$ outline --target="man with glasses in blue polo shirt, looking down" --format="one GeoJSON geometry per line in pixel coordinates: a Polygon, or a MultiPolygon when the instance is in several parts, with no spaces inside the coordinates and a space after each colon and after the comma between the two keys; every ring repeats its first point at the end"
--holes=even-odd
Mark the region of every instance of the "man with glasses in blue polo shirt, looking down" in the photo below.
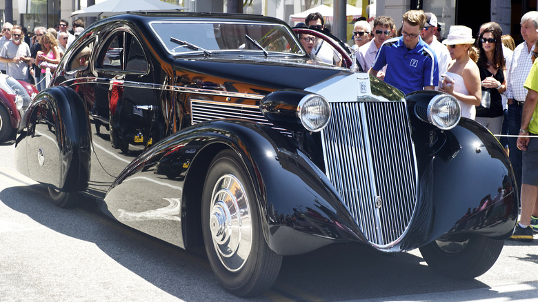
{"type": "Polygon", "coordinates": [[[439,68],[435,52],[420,37],[425,23],[426,14],[422,10],[403,14],[401,37],[383,43],[368,73],[375,76],[387,66],[384,81],[405,94],[433,90],[439,84],[439,68]]]}

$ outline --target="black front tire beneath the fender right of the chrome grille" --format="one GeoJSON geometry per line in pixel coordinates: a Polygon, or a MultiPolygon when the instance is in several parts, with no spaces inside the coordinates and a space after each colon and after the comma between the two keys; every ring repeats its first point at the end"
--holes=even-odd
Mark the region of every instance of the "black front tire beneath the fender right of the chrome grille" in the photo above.
{"type": "Polygon", "coordinates": [[[419,248],[428,265],[439,274],[472,279],[487,272],[501,254],[504,240],[477,234],[441,237],[419,248]]]}

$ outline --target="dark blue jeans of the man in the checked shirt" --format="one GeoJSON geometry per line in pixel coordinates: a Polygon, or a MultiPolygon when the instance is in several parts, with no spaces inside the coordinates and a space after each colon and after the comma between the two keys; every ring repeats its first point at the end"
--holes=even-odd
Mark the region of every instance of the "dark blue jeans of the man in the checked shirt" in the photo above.
{"type": "MultiPolygon", "coordinates": [[[[508,134],[519,134],[522,112],[523,107],[520,105],[508,105],[508,134]]],[[[510,162],[512,169],[514,169],[517,192],[521,193],[521,150],[517,148],[517,137],[508,137],[508,148],[510,148],[510,162]]]]}

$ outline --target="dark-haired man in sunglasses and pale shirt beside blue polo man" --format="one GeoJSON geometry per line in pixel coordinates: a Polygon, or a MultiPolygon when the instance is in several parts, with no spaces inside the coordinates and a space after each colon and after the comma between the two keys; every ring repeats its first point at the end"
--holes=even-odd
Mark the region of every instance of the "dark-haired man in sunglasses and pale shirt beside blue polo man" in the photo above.
{"type": "MultiPolygon", "coordinates": [[[[368,71],[370,67],[372,67],[372,64],[375,61],[377,50],[379,50],[381,45],[386,40],[390,39],[392,34],[394,34],[392,28],[394,28],[394,21],[391,17],[379,16],[375,18],[373,30],[374,39],[359,47],[359,51],[356,53],[357,61],[359,61],[362,70],[368,71]]],[[[385,77],[386,69],[386,67],[383,67],[377,73],[377,77],[379,79],[383,79],[385,77]]]]}

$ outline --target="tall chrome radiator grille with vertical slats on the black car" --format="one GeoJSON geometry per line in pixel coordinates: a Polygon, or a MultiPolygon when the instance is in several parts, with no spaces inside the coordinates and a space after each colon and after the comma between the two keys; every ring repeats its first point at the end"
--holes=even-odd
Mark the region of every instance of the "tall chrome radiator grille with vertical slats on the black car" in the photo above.
{"type": "Polygon", "coordinates": [[[370,243],[405,232],[417,199],[415,150],[406,103],[331,103],[321,135],[328,178],[370,243]]]}

